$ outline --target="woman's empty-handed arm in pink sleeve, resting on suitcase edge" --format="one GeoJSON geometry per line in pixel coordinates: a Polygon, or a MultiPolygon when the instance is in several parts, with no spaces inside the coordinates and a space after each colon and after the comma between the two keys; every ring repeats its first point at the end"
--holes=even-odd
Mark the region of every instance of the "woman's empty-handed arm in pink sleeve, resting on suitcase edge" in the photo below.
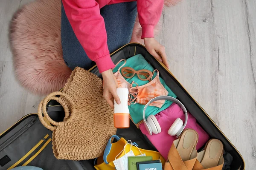
{"type": "Polygon", "coordinates": [[[154,26],[160,20],[163,0],[137,0],[137,10],[145,47],[152,56],[169,68],[164,46],[154,39],[154,26]]]}

